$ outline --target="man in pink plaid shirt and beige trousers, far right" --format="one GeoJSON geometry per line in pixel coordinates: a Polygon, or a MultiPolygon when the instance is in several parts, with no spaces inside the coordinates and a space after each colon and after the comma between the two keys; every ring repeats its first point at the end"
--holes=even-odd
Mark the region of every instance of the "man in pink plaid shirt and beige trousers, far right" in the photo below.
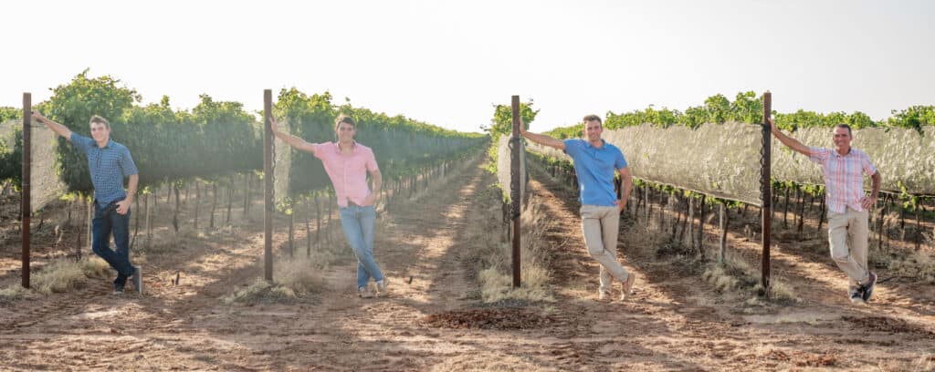
{"type": "Polygon", "coordinates": [[[789,149],[821,165],[827,199],[827,239],[831,258],[852,279],[848,285],[851,302],[867,303],[873,294],[877,276],[867,266],[869,213],[880,192],[880,172],[870,163],[870,156],[851,148],[851,127],[834,127],[834,149],[810,148],[797,139],[785,136],[770,119],[773,136],[789,149]],[[873,180],[870,196],[864,194],[864,174],[873,180]]]}

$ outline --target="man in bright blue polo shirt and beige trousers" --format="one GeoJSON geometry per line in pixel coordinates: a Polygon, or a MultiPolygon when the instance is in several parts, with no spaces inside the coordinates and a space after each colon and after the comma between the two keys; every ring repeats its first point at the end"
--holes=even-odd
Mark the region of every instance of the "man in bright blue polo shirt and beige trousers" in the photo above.
{"type": "Polygon", "coordinates": [[[620,211],[626,207],[633,181],[626,167],[624,153],[601,139],[604,128],[600,117],[588,115],[583,122],[585,139],[569,138],[561,141],[551,136],[526,132],[522,124],[520,133],[539,145],[564,150],[571,157],[581,189],[579,200],[582,203],[584,245],[591,257],[600,263],[598,298],[604,300],[610,297],[613,277],[623,283],[620,294],[620,300],[623,301],[632,293],[636,278],[617,262],[617,236],[620,232],[620,211]],[[622,199],[617,199],[613,190],[614,171],[620,172],[620,178],[623,179],[622,199]]]}

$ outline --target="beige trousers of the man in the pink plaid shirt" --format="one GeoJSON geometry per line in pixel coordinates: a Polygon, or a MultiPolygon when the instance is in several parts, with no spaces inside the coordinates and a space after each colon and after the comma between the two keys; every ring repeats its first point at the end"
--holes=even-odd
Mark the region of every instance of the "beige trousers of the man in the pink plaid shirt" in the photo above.
{"type": "Polygon", "coordinates": [[[827,212],[827,241],[831,246],[831,258],[853,279],[848,285],[852,289],[870,279],[867,269],[869,231],[869,213],[866,210],[858,212],[846,207],[844,213],[827,212]]]}

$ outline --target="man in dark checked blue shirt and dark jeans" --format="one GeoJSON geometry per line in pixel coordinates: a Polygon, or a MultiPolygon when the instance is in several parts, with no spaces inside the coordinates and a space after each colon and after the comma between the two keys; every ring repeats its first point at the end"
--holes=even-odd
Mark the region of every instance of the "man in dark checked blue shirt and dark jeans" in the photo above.
{"type": "Polygon", "coordinates": [[[80,136],[58,122],[52,122],[38,112],[33,119],[46,124],[53,132],[64,136],[88,156],[91,183],[94,184],[94,220],[92,250],[117,270],[114,294],[122,294],[126,279],[133,278],[137,293],[143,293],[139,266],[130,264],[130,205],[137,193],[139,175],[130,150],[110,140],[110,123],[97,115],[91,118],[91,136],[80,136]],[[128,190],[123,190],[123,178],[129,178],[128,190]],[[117,250],[110,249],[113,233],[117,250]]]}

